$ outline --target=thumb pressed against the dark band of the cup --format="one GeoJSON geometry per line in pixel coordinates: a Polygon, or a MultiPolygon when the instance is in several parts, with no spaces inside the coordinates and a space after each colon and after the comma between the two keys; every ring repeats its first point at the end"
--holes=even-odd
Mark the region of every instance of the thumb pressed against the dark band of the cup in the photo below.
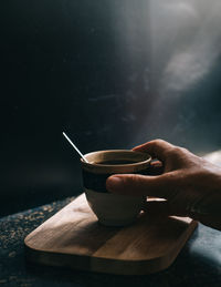
{"type": "Polygon", "coordinates": [[[112,193],[123,195],[149,195],[168,198],[171,196],[170,191],[175,189],[173,187],[178,185],[178,182],[179,180],[173,172],[156,176],[117,174],[107,178],[106,188],[112,193]]]}

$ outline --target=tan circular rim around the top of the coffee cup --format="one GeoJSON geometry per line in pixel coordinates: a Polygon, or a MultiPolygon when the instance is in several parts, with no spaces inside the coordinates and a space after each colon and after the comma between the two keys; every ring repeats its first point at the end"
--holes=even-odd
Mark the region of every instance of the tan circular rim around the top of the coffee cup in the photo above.
{"type": "Polygon", "coordinates": [[[86,166],[97,166],[97,167],[131,167],[131,166],[139,166],[143,164],[147,164],[151,162],[151,156],[148,153],[141,153],[141,152],[137,152],[137,151],[133,151],[133,150],[103,150],[103,151],[95,151],[95,152],[90,152],[84,154],[84,157],[87,157],[90,155],[93,154],[98,154],[98,153],[136,153],[139,155],[145,155],[147,158],[144,161],[139,161],[139,162],[135,162],[135,163],[129,163],[129,164],[98,164],[98,163],[86,163],[83,158],[81,158],[82,164],[86,165],[86,166]]]}

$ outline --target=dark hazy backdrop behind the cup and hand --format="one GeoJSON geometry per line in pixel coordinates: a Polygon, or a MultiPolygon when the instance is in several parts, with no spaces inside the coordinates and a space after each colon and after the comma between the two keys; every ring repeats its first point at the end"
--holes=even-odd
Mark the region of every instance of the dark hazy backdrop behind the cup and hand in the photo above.
{"type": "Polygon", "coordinates": [[[62,131],[83,153],[156,137],[220,148],[220,10],[166,4],[1,1],[0,215],[82,192],[62,131]]]}

